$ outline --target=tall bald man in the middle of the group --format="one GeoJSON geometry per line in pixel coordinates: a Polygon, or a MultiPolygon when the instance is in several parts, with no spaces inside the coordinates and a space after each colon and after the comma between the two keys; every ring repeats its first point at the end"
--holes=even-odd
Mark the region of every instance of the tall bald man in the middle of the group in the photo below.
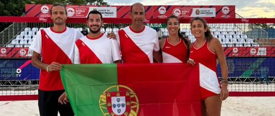
{"type": "Polygon", "coordinates": [[[144,25],[145,10],[141,3],[131,6],[132,24],[117,34],[123,63],[153,63],[161,61],[158,33],[144,25]]]}

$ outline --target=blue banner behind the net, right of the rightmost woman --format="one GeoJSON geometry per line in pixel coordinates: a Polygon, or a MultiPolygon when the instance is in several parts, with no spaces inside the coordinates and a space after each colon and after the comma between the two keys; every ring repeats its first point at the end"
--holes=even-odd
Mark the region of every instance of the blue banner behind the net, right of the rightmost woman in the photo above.
{"type": "MultiPolygon", "coordinates": [[[[275,77],[275,58],[226,58],[228,77],[275,77]]],[[[221,76],[220,64],[218,75],[221,76]]]]}

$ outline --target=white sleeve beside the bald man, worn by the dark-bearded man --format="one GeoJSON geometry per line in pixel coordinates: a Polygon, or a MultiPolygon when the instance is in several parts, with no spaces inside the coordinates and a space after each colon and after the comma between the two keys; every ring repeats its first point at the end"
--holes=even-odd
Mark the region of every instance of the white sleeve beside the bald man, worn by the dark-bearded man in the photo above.
{"type": "Polygon", "coordinates": [[[111,49],[112,49],[112,59],[113,61],[121,60],[120,48],[119,44],[115,39],[110,39],[111,41],[111,49]]]}

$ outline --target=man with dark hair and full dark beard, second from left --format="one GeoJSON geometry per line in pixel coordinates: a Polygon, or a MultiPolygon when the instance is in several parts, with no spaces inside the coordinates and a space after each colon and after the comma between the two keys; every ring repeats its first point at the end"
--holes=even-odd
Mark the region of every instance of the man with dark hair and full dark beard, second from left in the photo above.
{"type": "Polygon", "coordinates": [[[74,64],[121,62],[116,39],[109,39],[108,34],[102,33],[102,25],[102,14],[97,10],[90,11],[87,17],[90,33],[75,42],[74,64]]]}

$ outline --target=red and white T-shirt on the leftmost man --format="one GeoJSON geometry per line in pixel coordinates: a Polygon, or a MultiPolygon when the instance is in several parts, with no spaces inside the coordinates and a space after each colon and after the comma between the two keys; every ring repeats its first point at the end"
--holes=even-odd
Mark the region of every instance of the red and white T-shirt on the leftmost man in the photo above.
{"type": "MultiPolygon", "coordinates": [[[[82,33],[73,28],[66,27],[62,32],[55,32],[52,28],[46,28],[37,32],[30,49],[41,54],[41,60],[46,64],[52,62],[71,64],[74,55],[74,43],[82,36],[82,33]]],[[[39,89],[63,90],[60,72],[47,73],[46,70],[41,69],[39,89]]]]}

